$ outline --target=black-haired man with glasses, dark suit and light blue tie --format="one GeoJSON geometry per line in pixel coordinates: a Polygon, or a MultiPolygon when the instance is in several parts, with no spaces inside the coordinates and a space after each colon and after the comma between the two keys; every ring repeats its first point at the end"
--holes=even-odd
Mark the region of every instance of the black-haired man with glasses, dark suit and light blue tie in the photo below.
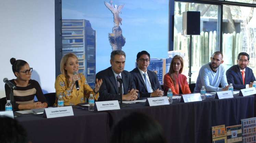
{"type": "Polygon", "coordinates": [[[141,98],[163,96],[156,73],[147,70],[149,60],[150,54],[147,51],[138,52],[136,59],[138,66],[130,72],[141,98]]]}

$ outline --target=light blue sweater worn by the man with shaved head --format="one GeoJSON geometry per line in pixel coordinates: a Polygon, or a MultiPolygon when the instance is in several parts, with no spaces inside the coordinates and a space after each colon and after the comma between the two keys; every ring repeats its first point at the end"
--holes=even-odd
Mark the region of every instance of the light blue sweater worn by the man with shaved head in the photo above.
{"type": "Polygon", "coordinates": [[[208,92],[222,91],[226,85],[228,85],[228,82],[224,66],[220,64],[215,73],[211,70],[210,63],[207,63],[199,70],[194,92],[200,92],[202,86],[205,86],[205,90],[208,92]],[[222,88],[218,88],[220,83],[222,88]]]}

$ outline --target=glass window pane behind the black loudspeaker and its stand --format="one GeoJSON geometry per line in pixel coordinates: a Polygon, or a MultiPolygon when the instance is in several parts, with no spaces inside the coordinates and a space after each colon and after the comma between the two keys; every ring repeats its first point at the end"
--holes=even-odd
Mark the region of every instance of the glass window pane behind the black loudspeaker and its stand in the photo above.
{"type": "MultiPolygon", "coordinates": [[[[210,62],[211,54],[217,51],[218,5],[175,2],[174,12],[174,50],[185,53],[183,74],[188,75],[189,36],[182,35],[182,13],[200,11],[200,35],[192,36],[192,77],[195,83],[199,69],[210,62]]],[[[192,24],[192,23],[189,23],[192,24]]],[[[188,76],[187,76],[188,79],[188,76]]]]}

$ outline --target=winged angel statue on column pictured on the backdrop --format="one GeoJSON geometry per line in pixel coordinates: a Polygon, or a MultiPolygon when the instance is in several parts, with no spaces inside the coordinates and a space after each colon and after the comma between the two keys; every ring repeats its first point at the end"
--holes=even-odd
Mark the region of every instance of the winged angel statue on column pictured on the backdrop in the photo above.
{"type": "Polygon", "coordinates": [[[113,13],[114,16],[114,27],[112,28],[113,33],[108,34],[110,45],[112,46],[112,50],[122,50],[122,47],[125,44],[125,38],[122,35],[122,29],[119,24],[122,25],[122,18],[119,16],[121,10],[124,7],[123,5],[112,5],[113,1],[110,0],[110,3],[104,2],[107,8],[113,13]]]}

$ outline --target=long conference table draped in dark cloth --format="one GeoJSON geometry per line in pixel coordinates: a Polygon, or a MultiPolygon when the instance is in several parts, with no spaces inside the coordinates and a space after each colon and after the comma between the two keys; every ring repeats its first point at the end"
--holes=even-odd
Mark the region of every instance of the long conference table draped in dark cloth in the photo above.
{"type": "Polygon", "coordinates": [[[145,113],[160,123],[168,143],[210,143],[211,127],[241,124],[241,119],[254,117],[255,97],[234,96],[183,103],[145,106],[129,104],[121,110],[93,111],[73,106],[74,116],[44,118],[42,115],[19,114],[16,120],[27,130],[33,143],[108,143],[111,128],[132,112],[145,113]]]}

